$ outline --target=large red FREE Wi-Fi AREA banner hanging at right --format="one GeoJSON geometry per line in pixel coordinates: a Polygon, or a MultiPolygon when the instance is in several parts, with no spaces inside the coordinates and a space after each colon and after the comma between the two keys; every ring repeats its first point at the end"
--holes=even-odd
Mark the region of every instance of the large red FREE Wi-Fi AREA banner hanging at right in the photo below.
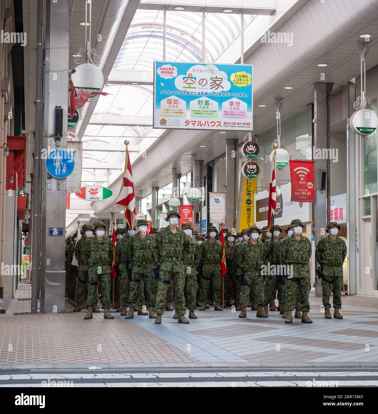
{"type": "Polygon", "coordinates": [[[313,161],[289,161],[292,201],[315,202],[313,161]]]}

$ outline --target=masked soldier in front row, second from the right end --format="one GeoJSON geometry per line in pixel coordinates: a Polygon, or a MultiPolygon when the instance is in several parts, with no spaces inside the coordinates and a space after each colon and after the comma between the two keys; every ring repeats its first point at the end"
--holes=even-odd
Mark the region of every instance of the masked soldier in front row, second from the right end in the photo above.
{"type": "Polygon", "coordinates": [[[293,321],[292,310],[294,310],[297,302],[298,289],[301,301],[299,310],[302,311],[302,322],[312,323],[312,320],[307,316],[310,310],[309,260],[311,258],[311,243],[307,237],[301,235],[304,227],[301,220],[292,220],[289,227],[294,230],[294,233],[287,238],[285,243],[282,242],[280,250],[281,263],[293,266],[293,273],[285,281],[285,323],[292,323],[293,321]]]}

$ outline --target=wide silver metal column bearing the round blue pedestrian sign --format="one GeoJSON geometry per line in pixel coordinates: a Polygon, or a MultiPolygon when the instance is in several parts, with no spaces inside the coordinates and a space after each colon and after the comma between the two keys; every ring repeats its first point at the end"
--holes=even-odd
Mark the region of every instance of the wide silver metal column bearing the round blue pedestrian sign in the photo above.
{"type": "MultiPolygon", "coordinates": [[[[43,147],[51,149],[56,148],[55,107],[62,107],[63,119],[67,117],[69,69],[69,13],[67,10],[69,10],[69,0],[56,3],[46,2],[43,147]]],[[[60,148],[67,148],[67,123],[63,123],[60,148]]],[[[34,188],[34,192],[37,190],[34,188]]],[[[51,177],[43,163],[41,312],[45,313],[64,312],[65,310],[65,200],[66,180],[51,177]],[[49,227],[63,228],[63,236],[50,237],[49,227]]]]}

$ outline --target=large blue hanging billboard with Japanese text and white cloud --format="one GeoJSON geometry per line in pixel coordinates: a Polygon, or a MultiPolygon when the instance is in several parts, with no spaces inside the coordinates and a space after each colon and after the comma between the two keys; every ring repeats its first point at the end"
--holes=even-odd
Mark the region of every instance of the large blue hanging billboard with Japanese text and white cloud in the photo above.
{"type": "Polygon", "coordinates": [[[153,128],[252,130],[252,70],[253,65],[155,62],[153,128]]]}

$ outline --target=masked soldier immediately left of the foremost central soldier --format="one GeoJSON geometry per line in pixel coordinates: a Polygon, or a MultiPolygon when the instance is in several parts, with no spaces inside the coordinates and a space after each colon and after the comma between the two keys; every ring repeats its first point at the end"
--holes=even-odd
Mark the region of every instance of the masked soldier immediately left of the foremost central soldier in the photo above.
{"type": "Polygon", "coordinates": [[[138,220],[136,227],[139,232],[131,236],[127,246],[127,258],[131,265],[131,279],[129,280],[129,313],[125,319],[134,318],[134,306],[138,305],[138,315],[148,315],[143,311],[144,306],[144,283],[148,284],[147,306],[150,308],[150,318],[155,318],[153,306],[155,301],[156,284],[153,277],[153,265],[155,257],[151,254],[153,236],[147,233],[148,221],[138,220]]]}

